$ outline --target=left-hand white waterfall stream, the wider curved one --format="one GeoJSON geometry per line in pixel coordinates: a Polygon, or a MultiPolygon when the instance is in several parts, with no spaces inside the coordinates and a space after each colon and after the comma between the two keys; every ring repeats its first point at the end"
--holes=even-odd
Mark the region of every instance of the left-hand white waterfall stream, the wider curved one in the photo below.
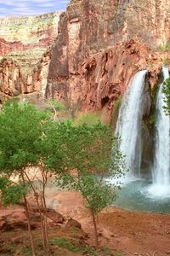
{"type": "Polygon", "coordinates": [[[121,136],[119,149],[126,155],[131,177],[139,177],[141,163],[141,120],[143,114],[143,92],[146,70],[136,73],[122,99],[116,134],[121,136]]]}

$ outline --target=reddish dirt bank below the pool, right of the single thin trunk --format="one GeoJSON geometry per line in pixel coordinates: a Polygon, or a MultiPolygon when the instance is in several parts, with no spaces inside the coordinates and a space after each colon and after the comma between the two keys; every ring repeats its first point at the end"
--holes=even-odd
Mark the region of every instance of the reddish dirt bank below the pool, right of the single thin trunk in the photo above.
{"type": "Polygon", "coordinates": [[[109,231],[108,245],[120,252],[134,255],[170,254],[169,216],[112,208],[99,216],[99,222],[109,231]]]}

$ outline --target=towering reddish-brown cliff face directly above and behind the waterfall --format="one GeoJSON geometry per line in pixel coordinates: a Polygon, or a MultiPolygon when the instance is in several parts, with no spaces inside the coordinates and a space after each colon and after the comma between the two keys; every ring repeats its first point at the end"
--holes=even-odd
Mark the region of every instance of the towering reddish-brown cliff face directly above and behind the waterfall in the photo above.
{"type": "Polygon", "coordinates": [[[133,74],[149,69],[156,84],[169,41],[167,0],[72,0],[59,20],[46,95],[80,103],[82,110],[111,110],[133,74]]]}

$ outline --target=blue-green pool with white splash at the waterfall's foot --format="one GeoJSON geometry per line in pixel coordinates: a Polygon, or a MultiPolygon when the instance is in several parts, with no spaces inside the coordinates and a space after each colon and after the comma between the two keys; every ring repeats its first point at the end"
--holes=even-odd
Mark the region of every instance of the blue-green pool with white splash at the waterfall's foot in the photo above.
{"type": "Polygon", "coordinates": [[[151,181],[135,180],[122,186],[114,205],[131,211],[170,213],[170,187],[165,193],[163,189],[151,181]]]}

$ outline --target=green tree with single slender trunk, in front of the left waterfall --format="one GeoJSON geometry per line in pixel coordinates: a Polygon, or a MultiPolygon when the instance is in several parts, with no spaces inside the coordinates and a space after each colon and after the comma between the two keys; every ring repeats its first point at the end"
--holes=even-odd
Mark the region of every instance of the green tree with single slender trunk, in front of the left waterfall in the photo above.
{"type": "Polygon", "coordinates": [[[116,199],[116,189],[120,186],[119,183],[112,184],[110,178],[120,177],[125,171],[123,156],[117,150],[118,138],[112,138],[110,128],[100,123],[91,127],[66,123],[60,124],[58,129],[62,137],[59,149],[63,165],[59,164],[59,154],[55,153],[58,136],[54,133],[48,167],[56,172],[59,186],[81,192],[92,215],[95,246],[98,248],[95,217],[116,199]]]}

